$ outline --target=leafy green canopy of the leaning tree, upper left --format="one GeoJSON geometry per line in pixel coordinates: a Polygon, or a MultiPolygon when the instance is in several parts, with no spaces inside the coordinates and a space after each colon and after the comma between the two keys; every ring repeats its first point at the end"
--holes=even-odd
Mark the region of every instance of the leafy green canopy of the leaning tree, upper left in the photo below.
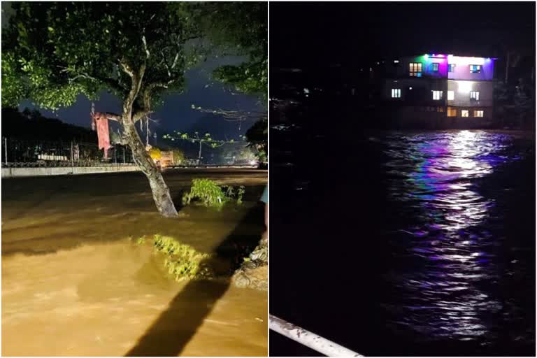
{"type": "Polygon", "coordinates": [[[13,3],[3,29],[2,106],[31,99],[56,109],[101,90],[126,99],[136,75],[139,119],[162,92],[182,90],[185,69],[201,57],[201,32],[188,8],[176,3],[173,11],[157,1],[13,3]]]}

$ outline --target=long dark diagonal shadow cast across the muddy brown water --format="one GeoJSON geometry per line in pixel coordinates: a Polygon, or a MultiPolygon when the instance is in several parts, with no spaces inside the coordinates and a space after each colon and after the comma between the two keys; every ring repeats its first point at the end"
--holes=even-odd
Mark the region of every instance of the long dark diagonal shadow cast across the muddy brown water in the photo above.
{"type": "MultiPolygon", "coordinates": [[[[255,248],[261,238],[262,225],[263,208],[258,205],[248,211],[231,234],[215,248],[215,253],[236,268],[237,258],[243,257],[241,248],[250,252],[255,248]],[[259,227],[259,232],[252,234],[252,225],[259,227]]],[[[188,282],[126,356],[180,355],[217,301],[227,292],[230,283],[229,279],[188,282]],[[192,309],[192,301],[199,303],[195,309],[192,309]]]]}

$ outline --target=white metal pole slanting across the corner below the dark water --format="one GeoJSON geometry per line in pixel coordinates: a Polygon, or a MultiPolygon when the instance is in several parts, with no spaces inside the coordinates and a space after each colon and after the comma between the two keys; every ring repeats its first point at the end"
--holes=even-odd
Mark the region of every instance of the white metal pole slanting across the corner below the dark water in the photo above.
{"type": "Polygon", "coordinates": [[[292,323],[275,317],[274,315],[268,315],[268,328],[272,329],[287,338],[291,338],[293,341],[306,345],[306,347],[316,350],[328,357],[362,357],[357,352],[352,352],[337,343],[317,336],[313,332],[307,331],[299,326],[295,326],[292,323]]]}

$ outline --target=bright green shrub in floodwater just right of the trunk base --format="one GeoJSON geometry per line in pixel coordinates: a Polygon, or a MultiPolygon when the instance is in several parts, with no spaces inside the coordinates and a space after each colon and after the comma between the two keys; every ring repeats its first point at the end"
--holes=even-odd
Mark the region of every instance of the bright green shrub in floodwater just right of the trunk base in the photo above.
{"type": "MultiPolygon", "coordinates": [[[[237,203],[243,203],[244,186],[238,188],[237,203]]],[[[199,199],[203,206],[221,208],[224,203],[231,201],[235,196],[234,187],[231,185],[217,185],[210,179],[194,179],[189,192],[182,196],[182,204],[188,205],[192,199],[199,199]]]]}

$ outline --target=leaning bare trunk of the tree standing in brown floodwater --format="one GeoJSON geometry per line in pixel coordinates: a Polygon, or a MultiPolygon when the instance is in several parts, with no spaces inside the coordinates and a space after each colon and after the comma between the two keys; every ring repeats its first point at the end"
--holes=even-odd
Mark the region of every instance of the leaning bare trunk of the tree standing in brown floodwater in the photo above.
{"type": "Polygon", "coordinates": [[[155,200],[159,213],[165,217],[176,217],[177,210],[173,206],[168,185],[164,182],[162,173],[160,173],[157,165],[153,162],[147,150],[145,150],[138,131],[136,131],[136,127],[134,126],[134,122],[131,118],[123,118],[122,124],[124,138],[132,150],[134,162],[140,167],[145,176],[148,177],[153,199],[155,200]]]}

